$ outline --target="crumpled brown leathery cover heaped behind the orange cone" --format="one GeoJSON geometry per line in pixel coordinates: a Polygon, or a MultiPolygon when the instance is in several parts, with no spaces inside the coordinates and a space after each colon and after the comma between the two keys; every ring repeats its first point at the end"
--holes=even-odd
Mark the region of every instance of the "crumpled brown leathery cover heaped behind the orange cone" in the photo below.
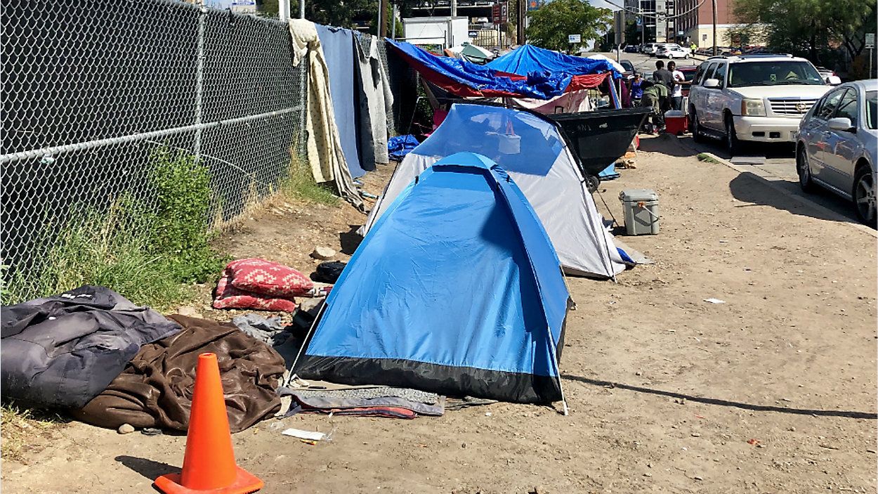
{"type": "Polygon", "coordinates": [[[276,389],[284,359],[274,349],[232,324],[176,315],[169,319],[183,331],[142,346],[103,393],[73,412],[76,418],[101,427],[131,424],[185,431],[202,352],[217,354],[232,432],[280,410],[276,389]]]}

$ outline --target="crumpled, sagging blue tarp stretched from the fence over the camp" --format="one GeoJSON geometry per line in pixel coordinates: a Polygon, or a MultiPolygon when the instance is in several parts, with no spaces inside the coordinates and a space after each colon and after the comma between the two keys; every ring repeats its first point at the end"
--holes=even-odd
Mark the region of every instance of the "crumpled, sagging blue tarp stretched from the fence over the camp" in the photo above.
{"type": "Polygon", "coordinates": [[[421,76],[457,96],[549,99],[564,94],[572,79],[571,74],[540,72],[528,74],[526,79],[514,80],[498,75],[497,70],[486,66],[450,56],[436,56],[405,41],[388,39],[387,42],[389,46],[399,49],[421,76]]]}

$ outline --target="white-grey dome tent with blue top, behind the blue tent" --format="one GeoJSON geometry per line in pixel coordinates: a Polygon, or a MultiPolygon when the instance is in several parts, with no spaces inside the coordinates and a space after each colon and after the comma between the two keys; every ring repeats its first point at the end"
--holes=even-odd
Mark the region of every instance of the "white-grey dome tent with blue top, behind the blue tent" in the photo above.
{"type": "Polygon", "coordinates": [[[493,105],[452,105],[442,125],[399,163],[359,233],[364,236],[421,171],[463,151],[491,158],[515,180],[543,222],[566,273],[614,278],[631,265],[604,228],[556,124],[536,113],[493,105]]]}

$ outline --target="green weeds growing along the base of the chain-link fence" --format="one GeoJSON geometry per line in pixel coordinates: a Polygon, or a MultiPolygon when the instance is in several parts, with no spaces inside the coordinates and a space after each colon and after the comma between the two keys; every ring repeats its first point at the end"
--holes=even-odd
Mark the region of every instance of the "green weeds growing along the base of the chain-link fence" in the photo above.
{"type": "Polygon", "coordinates": [[[226,259],[210,245],[207,167],[160,149],[148,178],[150,203],[123,194],[109,207],[75,205],[68,221],[47,222],[35,241],[45,255],[3,272],[3,303],[99,285],[162,309],[190,297],[187,285],[218,273],[226,259]]]}

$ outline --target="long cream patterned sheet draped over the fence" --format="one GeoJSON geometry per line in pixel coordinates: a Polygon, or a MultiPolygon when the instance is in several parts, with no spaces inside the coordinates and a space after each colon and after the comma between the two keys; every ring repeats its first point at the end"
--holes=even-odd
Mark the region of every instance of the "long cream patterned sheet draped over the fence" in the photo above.
{"type": "Polygon", "coordinates": [[[342,152],[342,140],[335,125],[332,98],[329,95],[329,69],[320,38],[313,22],[290,19],[293,63],[308,61],[308,100],[305,128],[308,133],[307,156],[318,183],[335,180],[339,195],[363,210],[363,198],[350,177],[342,152]]]}

